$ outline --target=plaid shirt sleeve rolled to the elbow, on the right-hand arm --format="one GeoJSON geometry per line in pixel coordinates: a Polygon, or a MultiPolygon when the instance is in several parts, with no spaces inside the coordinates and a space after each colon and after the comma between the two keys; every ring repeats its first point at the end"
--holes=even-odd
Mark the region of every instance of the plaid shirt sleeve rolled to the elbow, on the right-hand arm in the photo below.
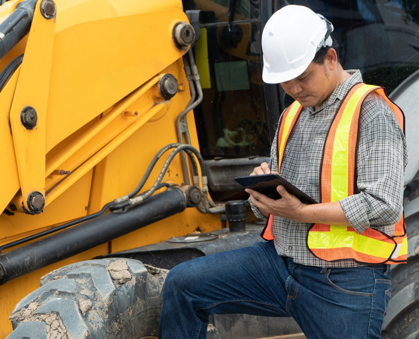
{"type": "Polygon", "coordinates": [[[368,227],[384,231],[403,212],[404,170],[409,160],[406,138],[393,111],[375,93],[362,105],[359,123],[359,194],[340,204],[358,233],[368,227]]]}

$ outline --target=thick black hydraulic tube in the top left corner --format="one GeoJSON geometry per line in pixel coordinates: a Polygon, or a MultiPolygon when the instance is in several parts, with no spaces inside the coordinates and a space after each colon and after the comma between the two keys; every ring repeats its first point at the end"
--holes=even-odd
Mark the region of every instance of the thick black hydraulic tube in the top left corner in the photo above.
{"type": "Polygon", "coordinates": [[[20,2],[15,10],[0,24],[0,59],[29,33],[38,0],[20,2]]]}

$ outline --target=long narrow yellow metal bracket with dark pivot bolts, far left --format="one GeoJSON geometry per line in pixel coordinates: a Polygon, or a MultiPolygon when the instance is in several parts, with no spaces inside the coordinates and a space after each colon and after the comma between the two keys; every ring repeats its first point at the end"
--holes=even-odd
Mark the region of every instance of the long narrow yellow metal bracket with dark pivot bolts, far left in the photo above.
{"type": "Polygon", "coordinates": [[[30,214],[41,213],[45,206],[45,123],[56,22],[56,15],[53,20],[44,17],[41,3],[36,4],[10,110],[23,204],[30,214]]]}

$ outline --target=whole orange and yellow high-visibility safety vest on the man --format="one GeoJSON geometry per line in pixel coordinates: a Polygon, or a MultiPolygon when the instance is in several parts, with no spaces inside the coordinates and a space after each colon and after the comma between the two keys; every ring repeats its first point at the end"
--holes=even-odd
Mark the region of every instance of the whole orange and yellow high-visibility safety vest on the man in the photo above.
{"type": "MultiPolygon", "coordinates": [[[[365,98],[372,92],[379,94],[396,115],[403,132],[405,117],[382,87],[358,83],[348,92],[329,127],[320,165],[320,202],[339,201],[357,192],[357,155],[359,142],[359,115],[365,98]]],[[[301,105],[295,101],[283,114],[278,131],[278,172],[287,142],[301,113],[301,105]]],[[[272,240],[273,216],[261,236],[272,240]]],[[[404,216],[395,225],[390,236],[372,227],[358,233],[350,226],[312,224],[307,231],[307,247],[317,258],[326,261],[355,260],[360,264],[406,263],[408,243],[404,216]]]]}

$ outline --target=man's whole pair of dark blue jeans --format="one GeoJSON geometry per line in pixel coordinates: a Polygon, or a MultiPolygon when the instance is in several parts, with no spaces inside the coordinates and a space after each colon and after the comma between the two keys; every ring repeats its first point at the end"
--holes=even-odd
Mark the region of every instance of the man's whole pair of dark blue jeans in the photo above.
{"type": "Polygon", "coordinates": [[[380,338],[391,296],[387,265],[326,269],[294,263],[273,241],[186,261],[165,282],[160,339],[205,339],[208,317],[293,317],[307,339],[380,338]]]}

